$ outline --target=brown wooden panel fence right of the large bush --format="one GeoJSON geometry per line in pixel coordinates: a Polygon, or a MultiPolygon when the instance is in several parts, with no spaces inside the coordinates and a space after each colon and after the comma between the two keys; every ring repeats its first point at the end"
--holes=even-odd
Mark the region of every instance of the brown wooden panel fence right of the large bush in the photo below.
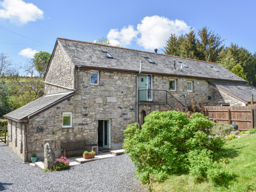
{"type": "Polygon", "coordinates": [[[206,106],[205,115],[215,122],[238,125],[239,130],[256,126],[256,105],[251,106],[206,106]]]}

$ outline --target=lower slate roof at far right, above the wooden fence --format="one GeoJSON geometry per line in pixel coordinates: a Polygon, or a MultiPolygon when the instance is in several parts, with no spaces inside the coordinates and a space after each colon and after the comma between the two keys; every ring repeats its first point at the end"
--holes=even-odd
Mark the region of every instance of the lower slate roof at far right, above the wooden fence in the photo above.
{"type": "Polygon", "coordinates": [[[208,81],[210,84],[215,85],[219,90],[224,90],[230,96],[236,96],[246,102],[250,102],[251,95],[253,95],[253,102],[256,102],[256,90],[244,83],[230,83],[220,81],[208,81]]]}

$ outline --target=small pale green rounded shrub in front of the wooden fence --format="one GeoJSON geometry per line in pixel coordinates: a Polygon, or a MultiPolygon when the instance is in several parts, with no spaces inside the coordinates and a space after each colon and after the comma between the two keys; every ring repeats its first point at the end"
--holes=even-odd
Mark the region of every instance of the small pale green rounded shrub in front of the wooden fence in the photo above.
{"type": "Polygon", "coordinates": [[[222,138],[230,134],[232,131],[234,131],[234,129],[231,125],[222,122],[214,123],[211,128],[211,134],[222,138]]]}

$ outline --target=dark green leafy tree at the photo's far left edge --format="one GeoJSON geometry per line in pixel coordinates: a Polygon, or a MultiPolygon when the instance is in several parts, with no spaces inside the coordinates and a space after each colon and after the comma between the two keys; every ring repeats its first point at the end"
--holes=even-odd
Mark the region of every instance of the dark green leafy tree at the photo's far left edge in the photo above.
{"type": "Polygon", "coordinates": [[[0,81],[0,118],[13,110],[10,101],[10,90],[4,80],[0,81]]]}

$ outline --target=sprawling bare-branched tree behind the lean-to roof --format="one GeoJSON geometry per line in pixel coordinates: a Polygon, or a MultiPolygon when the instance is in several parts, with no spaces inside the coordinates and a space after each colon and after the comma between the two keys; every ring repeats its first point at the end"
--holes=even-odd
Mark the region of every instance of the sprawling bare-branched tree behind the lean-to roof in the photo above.
{"type": "Polygon", "coordinates": [[[27,61],[26,65],[17,65],[10,70],[9,79],[13,82],[12,95],[15,96],[14,108],[22,107],[39,97],[39,91],[44,90],[43,73],[37,72],[35,64],[27,61]],[[25,75],[21,77],[18,72],[25,75]]]}

